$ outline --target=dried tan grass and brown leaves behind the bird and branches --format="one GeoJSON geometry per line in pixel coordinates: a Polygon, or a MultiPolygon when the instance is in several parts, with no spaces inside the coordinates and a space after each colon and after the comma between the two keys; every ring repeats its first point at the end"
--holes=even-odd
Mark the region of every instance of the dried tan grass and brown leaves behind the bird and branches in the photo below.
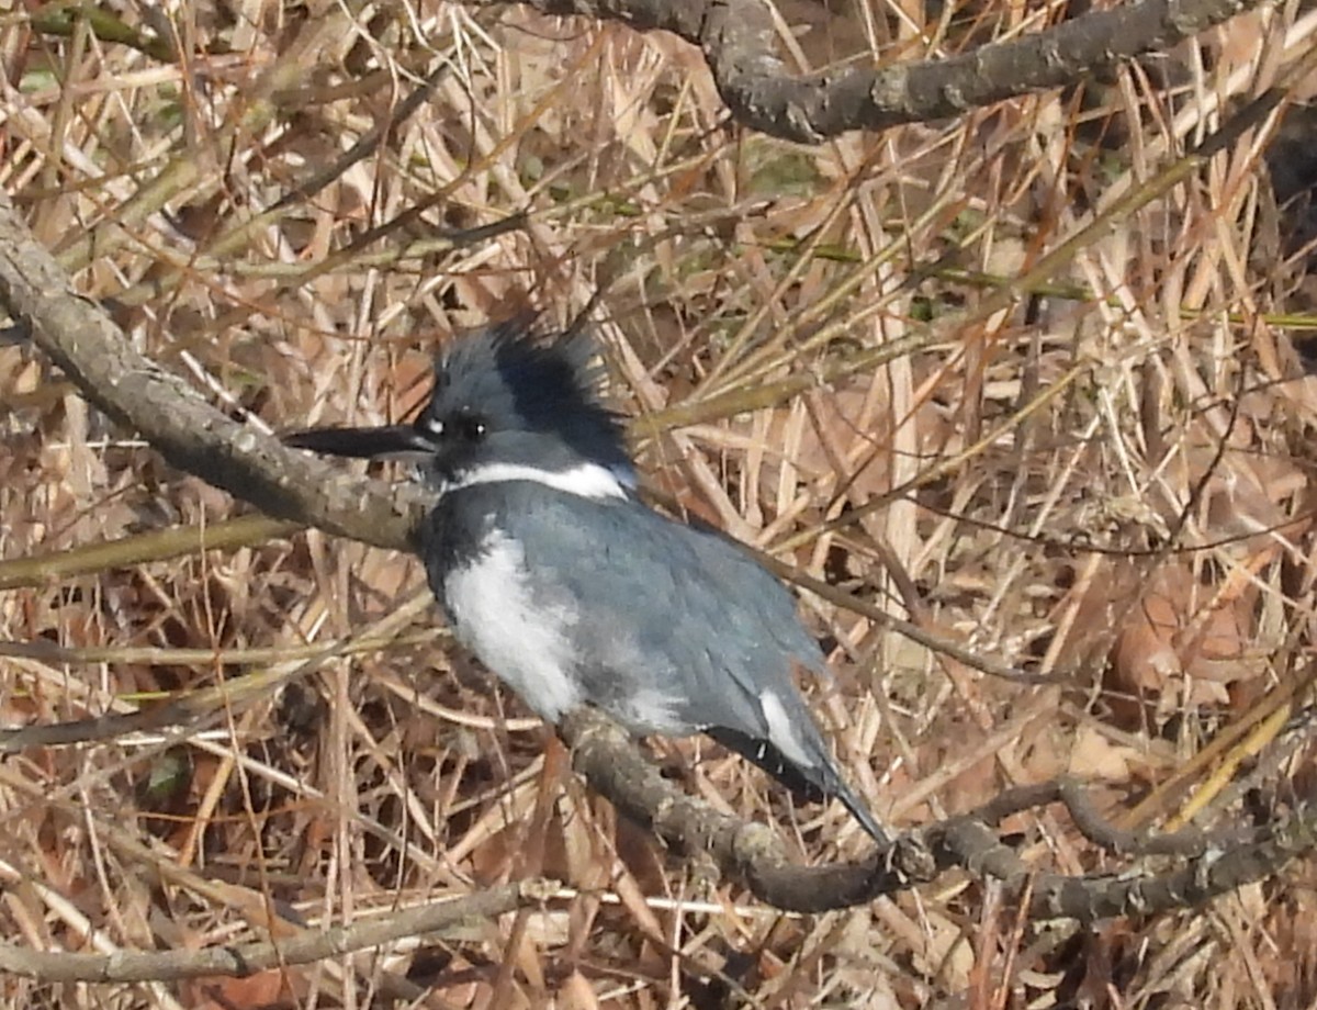
{"type": "MultiPolygon", "coordinates": [[[[778,9],[799,68],[954,53],[1065,13],[778,9]]],[[[1102,782],[1126,826],[1267,818],[1258,797],[1284,797],[1277,778],[1297,769],[1304,787],[1303,723],[1285,720],[1313,635],[1317,386],[1287,336],[1312,320],[1280,313],[1306,308],[1310,225],[1276,195],[1310,186],[1308,119],[1268,119],[1133,212],[1118,200],[1306,53],[1310,13],[1268,8],[1072,92],[819,147],[735,129],[685,43],[515,7],[101,13],[129,43],[0,13],[0,183],[76,290],[111,299],[216,403],[274,429],[402,417],[453,332],[527,303],[564,324],[603,288],[591,316],[614,396],[669,507],[1042,676],[984,677],[803,599],[836,673],[813,689],[817,711],[885,820],[1062,772],[1102,782]],[[142,51],[159,38],[190,55],[142,51]],[[298,198],[440,68],[428,101],[298,198]],[[1268,154],[1287,173],[1275,187],[1268,154]],[[453,248],[516,213],[522,226],[453,248]],[[1046,286],[977,312],[1072,237],[1046,286]],[[774,394],[880,346],[900,353],[774,394]],[[1196,756],[1227,727],[1258,730],[1229,787],[1208,787],[1221,756],[1196,756]]],[[[710,888],[618,823],[448,648],[415,561],[309,532],[142,562],[138,535],[242,506],[165,469],[22,346],[0,348],[0,582],[24,558],[119,544],[91,570],[0,594],[7,724],[344,645],[212,731],[0,764],[7,942],[200,948],[523,876],[564,882],[543,910],[313,969],[11,977],[5,1006],[1317,1001],[1306,863],[1206,909],[1083,931],[1022,922],[960,878],[819,918],[710,888]],[[382,644],[407,599],[419,616],[382,644]]],[[[793,810],[707,743],[652,751],[805,859],[865,851],[844,812],[793,810]]],[[[1105,865],[1063,818],[1018,830],[1040,865],[1105,865]]]]}

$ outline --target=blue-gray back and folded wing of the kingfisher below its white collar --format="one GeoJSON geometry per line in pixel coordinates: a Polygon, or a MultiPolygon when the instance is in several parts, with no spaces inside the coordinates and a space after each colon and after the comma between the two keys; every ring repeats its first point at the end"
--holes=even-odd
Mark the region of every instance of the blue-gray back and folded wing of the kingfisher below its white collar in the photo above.
{"type": "MultiPolygon", "coordinates": [[[[425,529],[436,597],[495,529],[520,544],[537,611],[560,615],[573,652],[587,657],[574,673],[594,702],[636,731],[723,726],[763,736],[760,694],[774,690],[795,708],[793,665],[822,669],[792,594],[744,548],[630,498],[529,481],[445,495],[425,529]]],[[[817,736],[798,704],[793,720],[817,736]]]]}

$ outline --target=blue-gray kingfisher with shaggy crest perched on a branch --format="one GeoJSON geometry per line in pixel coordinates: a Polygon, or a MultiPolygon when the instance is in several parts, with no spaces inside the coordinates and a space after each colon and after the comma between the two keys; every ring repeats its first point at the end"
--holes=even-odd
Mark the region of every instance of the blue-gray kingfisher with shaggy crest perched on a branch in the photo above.
{"type": "Polygon", "coordinates": [[[551,724],[582,704],[630,731],[705,732],[788,789],[834,795],[878,844],[795,687],[823,672],[795,602],[740,544],[641,502],[583,334],[514,320],[454,340],[412,424],[284,436],[406,458],[436,503],[419,531],[460,643],[551,724]]]}

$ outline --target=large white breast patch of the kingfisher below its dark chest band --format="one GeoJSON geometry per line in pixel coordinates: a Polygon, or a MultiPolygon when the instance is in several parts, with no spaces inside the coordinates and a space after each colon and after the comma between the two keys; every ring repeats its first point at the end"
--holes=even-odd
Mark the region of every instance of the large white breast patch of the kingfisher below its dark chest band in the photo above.
{"type": "Polygon", "coordinates": [[[475,560],[444,579],[444,602],[462,644],[541,719],[557,723],[581,704],[566,636],[579,615],[535,604],[520,544],[486,537],[475,560]]]}

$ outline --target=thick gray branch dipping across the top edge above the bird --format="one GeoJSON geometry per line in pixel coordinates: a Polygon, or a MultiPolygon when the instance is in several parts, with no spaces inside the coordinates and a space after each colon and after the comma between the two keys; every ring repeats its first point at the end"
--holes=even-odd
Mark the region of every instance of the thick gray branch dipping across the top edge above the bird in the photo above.
{"type": "Polygon", "coordinates": [[[525,0],[548,14],[662,29],[699,46],[723,101],[744,126],[817,144],[846,130],[957,116],[1084,80],[1098,67],[1164,51],[1258,0],[1142,0],[950,59],[792,76],[763,0],[525,0]]]}

